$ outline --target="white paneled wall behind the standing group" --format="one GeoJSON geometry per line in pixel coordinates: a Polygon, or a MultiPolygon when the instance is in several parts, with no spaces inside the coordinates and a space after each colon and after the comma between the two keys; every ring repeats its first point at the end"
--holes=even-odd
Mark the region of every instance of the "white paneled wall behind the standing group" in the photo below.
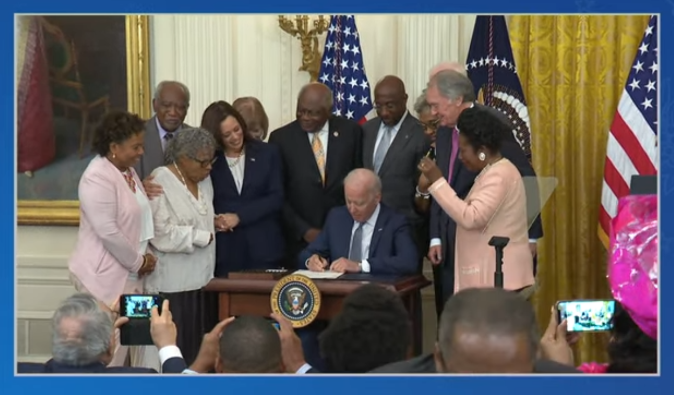
{"type": "MultiPolygon", "coordinates": [[[[176,79],[189,86],[192,100],[187,123],[192,125],[200,124],[202,112],[211,102],[232,102],[239,96],[256,96],[262,101],[272,130],[290,122],[297,93],[309,81],[309,74],[298,71],[299,42],[278,28],[277,18],[278,15],[153,16],[153,85],[163,79],[176,79]]],[[[466,59],[474,18],[357,15],[369,80],[374,85],[384,75],[398,75],[407,85],[411,108],[433,65],[466,59]]],[[[45,360],[51,353],[49,318],[59,301],[73,292],[67,258],[76,237],[75,227],[18,227],[17,347],[21,360],[45,360]]],[[[425,308],[427,329],[432,337],[432,295],[427,293],[425,300],[429,307],[425,308]]]]}

